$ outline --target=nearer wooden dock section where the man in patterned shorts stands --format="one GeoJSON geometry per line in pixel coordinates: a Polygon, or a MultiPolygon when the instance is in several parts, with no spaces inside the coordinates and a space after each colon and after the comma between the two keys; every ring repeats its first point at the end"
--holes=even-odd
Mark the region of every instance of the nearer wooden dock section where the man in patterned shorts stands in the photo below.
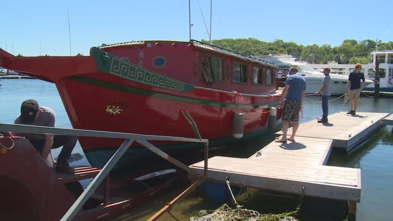
{"type": "MultiPolygon", "coordinates": [[[[360,202],[360,169],[325,166],[332,140],[271,142],[249,158],[213,157],[208,178],[233,185],[360,202]]],[[[203,174],[204,162],[189,166],[203,174]]]]}

